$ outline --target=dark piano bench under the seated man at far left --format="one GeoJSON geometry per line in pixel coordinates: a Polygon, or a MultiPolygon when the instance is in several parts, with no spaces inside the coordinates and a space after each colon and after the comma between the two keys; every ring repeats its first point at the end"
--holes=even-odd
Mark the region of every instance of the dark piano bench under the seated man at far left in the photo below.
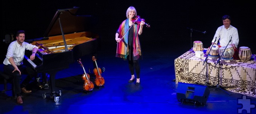
{"type": "Polygon", "coordinates": [[[6,91],[10,91],[12,90],[12,97],[16,97],[16,93],[14,91],[14,82],[13,82],[13,79],[10,78],[11,76],[9,76],[8,74],[4,73],[3,71],[0,71],[0,84],[3,83],[3,86],[4,86],[4,90],[1,91],[1,93],[6,93],[6,91]],[[12,88],[11,89],[7,89],[7,85],[8,83],[11,83],[12,85],[12,88]]]}

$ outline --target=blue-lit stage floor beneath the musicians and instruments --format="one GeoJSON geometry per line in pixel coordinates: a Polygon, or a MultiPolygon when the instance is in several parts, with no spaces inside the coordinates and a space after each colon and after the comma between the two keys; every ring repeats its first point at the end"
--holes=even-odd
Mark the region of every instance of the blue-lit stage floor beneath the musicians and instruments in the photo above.
{"type": "MultiPolygon", "coordinates": [[[[23,94],[24,103],[21,105],[14,99],[6,100],[6,94],[1,93],[0,114],[238,114],[242,107],[238,104],[242,94],[227,91],[229,95],[219,89],[210,90],[205,106],[178,102],[174,59],[188,49],[168,50],[175,48],[172,46],[152,49],[152,43],[144,42],[143,60],[140,61],[141,84],[135,85],[134,82],[128,83],[131,77],[128,61],[115,57],[114,45],[113,42],[113,46],[102,48],[96,58],[98,66],[105,68],[102,72],[104,87],[85,93],[81,79],[84,71],[78,62],[74,62],[56,74],[56,90],[62,92],[59,102],[50,99],[49,94],[45,99],[42,97],[50,89],[32,88],[32,93],[23,94]]],[[[84,56],[81,60],[89,73],[88,68],[93,68],[91,56],[84,56]]],[[[7,95],[11,96],[11,91],[7,95]]],[[[256,104],[256,98],[247,96],[247,99],[256,104]]],[[[256,109],[250,111],[256,113],[256,109]]]]}

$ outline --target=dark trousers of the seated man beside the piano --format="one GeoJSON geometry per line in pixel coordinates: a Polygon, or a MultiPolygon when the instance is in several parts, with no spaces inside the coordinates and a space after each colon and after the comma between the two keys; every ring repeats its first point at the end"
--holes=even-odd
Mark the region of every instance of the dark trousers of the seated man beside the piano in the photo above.
{"type": "MultiPolygon", "coordinates": [[[[5,73],[9,74],[11,76],[10,78],[14,79],[14,87],[15,87],[15,93],[17,93],[17,96],[20,96],[21,89],[23,87],[26,87],[32,78],[37,78],[37,73],[32,67],[27,67],[26,65],[18,65],[17,66],[19,70],[21,71],[21,74],[27,74],[24,81],[20,84],[21,81],[21,75],[18,71],[14,71],[14,67],[12,65],[5,65],[4,71],[5,73]],[[12,71],[14,71],[12,73],[12,71]]],[[[22,75],[24,76],[24,75],[22,75]]]]}

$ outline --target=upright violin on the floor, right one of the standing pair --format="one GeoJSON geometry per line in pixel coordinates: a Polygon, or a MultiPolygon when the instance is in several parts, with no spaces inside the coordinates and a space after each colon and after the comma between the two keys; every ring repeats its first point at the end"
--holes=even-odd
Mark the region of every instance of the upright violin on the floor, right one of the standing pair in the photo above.
{"type": "Polygon", "coordinates": [[[96,62],[96,58],[93,56],[93,61],[96,64],[96,68],[93,69],[95,76],[95,84],[100,87],[102,85],[105,84],[105,80],[104,78],[101,76],[101,68],[98,68],[97,62],[96,62]]]}

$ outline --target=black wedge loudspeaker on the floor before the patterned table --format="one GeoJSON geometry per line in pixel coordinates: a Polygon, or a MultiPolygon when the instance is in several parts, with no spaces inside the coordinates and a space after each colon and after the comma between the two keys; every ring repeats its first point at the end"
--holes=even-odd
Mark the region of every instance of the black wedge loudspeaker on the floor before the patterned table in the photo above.
{"type": "Polygon", "coordinates": [[[209,94],[208,86],[178,82],[176,95],[181,103],[204,106],[209,94]]]}

